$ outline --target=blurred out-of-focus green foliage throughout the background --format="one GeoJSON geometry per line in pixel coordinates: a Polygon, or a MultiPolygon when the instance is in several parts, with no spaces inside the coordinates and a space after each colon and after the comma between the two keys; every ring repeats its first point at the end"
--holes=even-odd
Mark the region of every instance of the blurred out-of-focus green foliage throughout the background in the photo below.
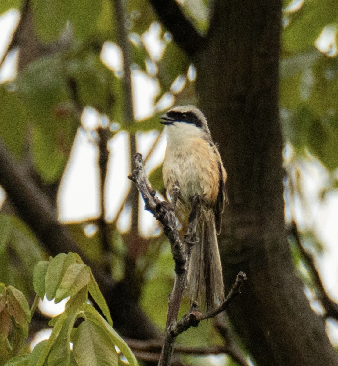
{"type": "MultiPolygon", "coordinates": [[[[182,7],[201,34],[208,29],[211,4],[207,0],[186,0],[182,7]]],[[[22,10],[23,5],[23,0],[1,0],[0,14],[12,7],[22,10]]],[[[81,127],[84,107],[93,107],[100,116],[114,122],[110,138],[119,130],[134,134],[162,128],[158,116],[170,104],[165,102],[167,96],[175,104],[197,102],[195,77],[190,78],[188,72],[190,60],[160,25],[149,2],[129,0],[126,7],[131,70],[159,85],[153,114],[132,123],[123,120],[126,108],[123,70],[113,70],[102,61],[104,45],[117,45],[117,34],[121,31],[116,29],[112,1],[31,0],[34,30],[41,44],[48,46],[48,52],[37,54],[34,61],[18,71],[14,80],[0,85],[0,136],[19,163],[30,161],[45,186],[58,185],[63,176],[75,134],[81,127]]],[[[296,155],[306,156],[310,152],[329,172],[338,168],[337,20],[335,0],[285,1],[280,63],[283,134],[296,155]],[[322,43],[316,42],[324,27],[326,36],[320,38],[322,43]]],[[[155,167],[149,178],[153,188],[163,191],[161,167],[155,167]]],[[[332,180],[332,188],[337,188],[337,182],[332,180]]],[[[83,253],[100,262],[103,255],[100,233],[96,226],[88,235],[85,228],[89,224],[96,225],[95,218],[67,226],[83,253]]],[[[118,232],[116,222],[108,223],[108,231],[111,272],[119,280],[125,272],[127,240],[118,232]]],[[[173,262],[166,240],[162,237],[159,240],[163,245],[157,243],[156,251],[148,247],[145,258],[137,261],[136,272],[144,277],[140,304],[163,329],[167,295],[173,283],[173,262]]],[[[297,250],[294,258],[299,265],[297,250]]],[[[43,259],[48,259],[47,254],[30,229],[15,214],[1,214],[0,282],[13,285],[32,299],[33,268],[43,259]]],[[[47,265],[38,268],[43,272],[47,265]]],[[[83,293],[79,296],[83,299],[83,293]]],[[[182,311],[188,306],[185,299],[182,311]]],[[[95,325],[90,326],[93,332],[100,333],[95,325]]],[[[200,344],[218,343],[214,332],[211,322],[205,322],[178,341],[189,345],[196,345],[197,339],[200,344]]],[[[45,345],[40,343],[34,352],[39,355],[45,345]]],[[[4,352],[0,348],[1,360],[4,352]]]]}

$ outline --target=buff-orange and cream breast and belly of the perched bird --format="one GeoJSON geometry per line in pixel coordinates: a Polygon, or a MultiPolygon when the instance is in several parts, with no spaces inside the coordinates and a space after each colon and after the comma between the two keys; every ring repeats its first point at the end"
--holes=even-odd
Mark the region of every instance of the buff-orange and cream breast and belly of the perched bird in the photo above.
{"type": "Polygon", "coordinates": [[[208,205],[215,205],[219,189],[218,156],[213,147],[200,137],[189,139],[173,148],[167,147],[163,163],[163,181],[168,193],[178,185],[182,203],[190,208],[198,194],[208,205]]]}

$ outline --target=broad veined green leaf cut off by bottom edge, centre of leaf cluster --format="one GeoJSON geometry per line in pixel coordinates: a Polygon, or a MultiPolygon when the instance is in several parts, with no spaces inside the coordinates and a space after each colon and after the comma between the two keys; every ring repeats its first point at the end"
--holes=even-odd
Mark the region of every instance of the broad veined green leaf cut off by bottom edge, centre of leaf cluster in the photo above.
{"type": "Polygon", "coordinates": [[[117,366],[118,355],[103,328],[85,320],[77,328],[73,354],[79,366],[117,366]]]}

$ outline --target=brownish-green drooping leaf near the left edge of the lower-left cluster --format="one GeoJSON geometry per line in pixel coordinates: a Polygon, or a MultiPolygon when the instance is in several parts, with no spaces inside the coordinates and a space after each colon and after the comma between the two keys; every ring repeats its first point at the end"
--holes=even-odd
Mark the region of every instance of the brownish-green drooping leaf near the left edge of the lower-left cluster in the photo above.
{"type": "Polygon", "coordinates": [[[11,285],[7,287],[7,310],[21,327],[24,337],[27,337],[30,321],[29,305],[23,293],[11,285]]]}

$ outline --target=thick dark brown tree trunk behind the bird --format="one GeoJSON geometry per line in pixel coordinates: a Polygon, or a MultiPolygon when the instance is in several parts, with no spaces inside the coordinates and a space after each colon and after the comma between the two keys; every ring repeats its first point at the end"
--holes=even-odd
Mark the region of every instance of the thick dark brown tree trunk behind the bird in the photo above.
{"type": "Polygon", "coordinates": [[[230,319],[258,365],[337,365],[324,320],[294,273],[284,222],[278,118],[281,2],[215,1],[195,55],[197,92],[228,172],[225,288],[248,276],[230,319]]]}

